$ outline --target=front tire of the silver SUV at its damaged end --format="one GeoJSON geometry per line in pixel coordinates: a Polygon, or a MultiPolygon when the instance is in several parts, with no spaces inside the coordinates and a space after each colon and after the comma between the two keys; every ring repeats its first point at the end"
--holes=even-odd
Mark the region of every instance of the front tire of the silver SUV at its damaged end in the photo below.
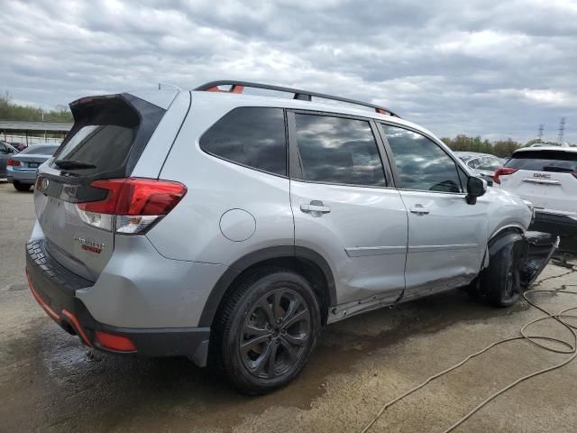
{"type": "Polygon", "coordinates": [[[508,244],[490,258],[482,278],[483,292],[496,307],[515,305],[521,294],[519,243],[508,244]]]}

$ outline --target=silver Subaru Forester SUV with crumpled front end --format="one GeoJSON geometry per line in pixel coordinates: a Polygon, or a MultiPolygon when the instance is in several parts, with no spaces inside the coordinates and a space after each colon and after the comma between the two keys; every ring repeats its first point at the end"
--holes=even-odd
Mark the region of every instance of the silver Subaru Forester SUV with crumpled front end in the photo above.
{"type": "Polygon", "coordinates": [[[35,184],[34,298],[85,345],[214,363],[243,392],[363,311],[463,286],[511,305],[554,249],[527,202],[380,106],[221,81],[70,108],[35,184]]]}

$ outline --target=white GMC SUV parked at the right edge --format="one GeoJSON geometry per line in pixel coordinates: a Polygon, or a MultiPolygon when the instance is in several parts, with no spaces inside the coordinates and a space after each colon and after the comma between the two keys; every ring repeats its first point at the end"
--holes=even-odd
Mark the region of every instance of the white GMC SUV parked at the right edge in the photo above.
{"type": "Polygon", "coordinates": [[[518,149],[494,180],[534,204],[537,230],[561,235],[561,247],[577,252],[577,148],[518,149]]]}

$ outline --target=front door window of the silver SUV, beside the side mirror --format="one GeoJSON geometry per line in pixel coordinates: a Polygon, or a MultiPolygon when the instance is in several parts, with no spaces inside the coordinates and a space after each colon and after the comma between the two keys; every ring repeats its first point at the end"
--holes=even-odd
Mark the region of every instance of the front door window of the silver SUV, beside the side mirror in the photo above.
{"type": "Polygon", "coordinates": [[[381,124],[393,152],[402,189],[462,192],[455,162],[421,134],[381,124]]]}

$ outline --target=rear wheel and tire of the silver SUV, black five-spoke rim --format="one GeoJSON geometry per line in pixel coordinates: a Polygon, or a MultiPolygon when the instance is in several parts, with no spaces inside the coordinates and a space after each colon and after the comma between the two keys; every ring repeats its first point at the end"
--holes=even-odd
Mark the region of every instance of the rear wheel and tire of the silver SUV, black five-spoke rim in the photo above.
{"type": "Polygon", "coordinates": [[[309,282],[298,273],[267,268],[234,288],[215,324],[218,365],[248,394],[276,390],[307,364],[321,328],[309,282]]]}

